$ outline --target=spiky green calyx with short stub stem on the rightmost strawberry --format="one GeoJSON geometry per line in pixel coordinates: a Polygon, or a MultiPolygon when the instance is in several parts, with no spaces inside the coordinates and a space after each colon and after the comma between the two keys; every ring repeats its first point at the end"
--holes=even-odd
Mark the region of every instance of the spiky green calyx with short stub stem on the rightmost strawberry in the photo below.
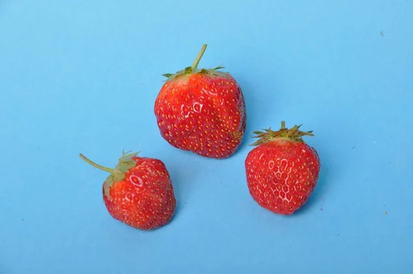
{"type": "Polygon", "coordinates": [[[314,136],[313,131],[300,131],[299,127],[301,125],[295,125],[290,129],[286,128],[286,123],[284,121],[281,122],[281,129],[277,131],[269,129],[262,129],[263,131],[254,131],[254,134],[257,136],[253,136],[253,138],[260,138],[252,146],[261,145],[263,143],[268,143],[273,140],[290,140],[299,143],[304,143],[303,136],[314,136]]]}

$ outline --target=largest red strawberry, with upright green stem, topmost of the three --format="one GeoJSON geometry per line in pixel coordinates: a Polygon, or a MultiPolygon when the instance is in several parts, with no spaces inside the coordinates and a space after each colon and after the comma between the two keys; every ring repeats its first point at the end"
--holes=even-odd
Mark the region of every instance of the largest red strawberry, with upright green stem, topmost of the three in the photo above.
{"type": "Polygon", "coordinates": [[[209,158],[227,158],[239,147],[246,127],[244,95],[223,67],[198,69],[207,45],[191,67],[168,77],[154,112],[161,136],[173,147],[209,158]]]}

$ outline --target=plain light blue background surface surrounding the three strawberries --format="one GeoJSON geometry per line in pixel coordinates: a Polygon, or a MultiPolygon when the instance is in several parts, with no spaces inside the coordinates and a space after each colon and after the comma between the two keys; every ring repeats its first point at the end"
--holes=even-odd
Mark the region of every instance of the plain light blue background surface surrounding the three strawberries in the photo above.
{"type": "Polygon", "coordinates": [[[0,1],[0,273],[412,273],[412,1],[0,1]],[[410,17],[410,18],[409,18],[410,17]],[[224,63],[240,150],[169,146],[161,74],[224,63]],[[294,215],[249,196],[252,131],[303,124],[319,185],[294,215]],[[173,221],[138,231],[101,185],[125,150],[165,162],[173,221]],[[387,214],[385,214],[387,211],[387,214]]]}

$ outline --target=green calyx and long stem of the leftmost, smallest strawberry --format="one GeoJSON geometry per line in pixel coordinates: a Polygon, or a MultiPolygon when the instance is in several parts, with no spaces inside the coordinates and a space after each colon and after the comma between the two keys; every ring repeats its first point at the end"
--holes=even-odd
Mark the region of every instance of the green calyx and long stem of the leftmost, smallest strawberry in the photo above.
{"type": "Polygon", "coordinates": [[[96,167],[97,169],[109,172],[109,176],[107,176],[105,183],[103,184],[103,189],[105,191],[105,196],[109,196],[109,191],[110,187],[114,184],[114,182],[123,180],[125,178],[125,173],[129,171],[129,169],[133,168],[136,166],[136,162],[134,161],[134,157],[136,157],[139,154],[138,152],[135,153],[130,153],[128,154],[123,151],[122,157],[119,158],[118,160],[118,165],[114,169],[111,169],[109,167],[103,167],[101,165],[96,164],[96,162],[92,162],[92,160],[89,160],[83,154],[79,154],[79,156],[85,160],[89,165],[92,165],[93,167],[96,167]]]}

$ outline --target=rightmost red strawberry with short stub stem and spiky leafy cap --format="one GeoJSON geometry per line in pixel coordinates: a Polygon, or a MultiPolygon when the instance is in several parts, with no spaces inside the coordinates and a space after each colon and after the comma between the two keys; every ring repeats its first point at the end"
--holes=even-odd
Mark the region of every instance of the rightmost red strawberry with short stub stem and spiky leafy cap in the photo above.
{"type": "Polygon", "coordinates": [[[320,162],[317,151],[304,143],[302,136],[313,131],[299,131],[295,125],[279,131],[255,131],[260,138],[245,160],[246,181],[253,199],[261,207],[290,215],[303,206],[317,185],[320,162]]]}

